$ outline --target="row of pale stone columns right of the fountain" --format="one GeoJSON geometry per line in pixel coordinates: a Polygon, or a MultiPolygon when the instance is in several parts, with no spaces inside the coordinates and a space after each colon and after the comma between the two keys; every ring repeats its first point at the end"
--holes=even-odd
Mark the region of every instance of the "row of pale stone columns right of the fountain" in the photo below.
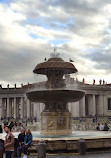
{"type": "Polygon", "coordinates": [[[80,101],[69,103],[69,111],[73,117],[107,115],[107,96],[86,94],[80,101]]]}

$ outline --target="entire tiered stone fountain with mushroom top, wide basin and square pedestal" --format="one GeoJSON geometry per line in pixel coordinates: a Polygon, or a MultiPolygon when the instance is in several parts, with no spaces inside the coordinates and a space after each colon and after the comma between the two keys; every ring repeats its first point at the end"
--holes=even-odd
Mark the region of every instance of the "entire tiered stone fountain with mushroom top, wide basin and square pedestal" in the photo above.
{"type": "Polygon", "coordinates": [[[76,73],[77,69],[72,63],[53,56],[38,64],[33,72],[47,76],[46,89],[27,92],[30,101],[45,104],[45,108],[41,112],[41,134],[71,134],[71,113],[68,110],[68,102],[82,99],[84,92],[66,89],[63,76],[76,73]]]}

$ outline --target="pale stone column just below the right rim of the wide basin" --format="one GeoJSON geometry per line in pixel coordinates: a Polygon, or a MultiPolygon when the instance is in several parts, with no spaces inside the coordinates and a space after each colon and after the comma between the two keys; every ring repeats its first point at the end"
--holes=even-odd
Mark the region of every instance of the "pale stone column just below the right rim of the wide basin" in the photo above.
{"type": "Polygon", "coordinates": [[[79,115],[85,116],[85,96],[79,101],[79,115]]]}

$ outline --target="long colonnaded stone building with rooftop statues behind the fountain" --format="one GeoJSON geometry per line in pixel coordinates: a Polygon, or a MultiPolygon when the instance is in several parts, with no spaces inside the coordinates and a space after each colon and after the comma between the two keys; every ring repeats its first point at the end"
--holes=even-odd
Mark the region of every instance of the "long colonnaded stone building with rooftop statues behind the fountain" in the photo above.
{"type": "MultiPolygon", "coordinates": [[[[111,115],[111,85],[109,84],[85,84],[66,77],[67,87],[81,89],[85,96],[78,102],[68,103],[69,111],[73,117],[111,115]],[[69,86],[68,86],[69,85],[69,86]]],[[[33,84],[34,85],[34,84],[33,84]]],[[[36,86],[41,88],[43,83],[36,86]]],[[[43,103],[29,101],[26,92],[33,88],[32,85],[17,88],[0,88],[0,118],[34,118],[40,119],[40,113],[44,109],[43,103]]]]}

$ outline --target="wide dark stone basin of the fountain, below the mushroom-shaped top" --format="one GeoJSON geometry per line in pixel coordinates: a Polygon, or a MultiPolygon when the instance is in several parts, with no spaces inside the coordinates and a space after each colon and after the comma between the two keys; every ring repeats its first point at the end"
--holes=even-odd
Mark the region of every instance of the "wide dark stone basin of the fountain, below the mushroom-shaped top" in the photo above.
{"type": "Polygon", "coordinates": [[[83,98],[84,92],[80,90],[39,90],[27,92],[32,102],[76,102],[83,98]]]}

